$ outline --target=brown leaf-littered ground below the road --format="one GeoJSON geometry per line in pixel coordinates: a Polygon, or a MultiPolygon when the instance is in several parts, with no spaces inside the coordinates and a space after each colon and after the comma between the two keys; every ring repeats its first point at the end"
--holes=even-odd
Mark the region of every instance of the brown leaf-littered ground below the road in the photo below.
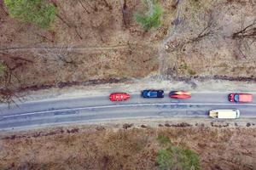
{"type": "MultiPolygon", "coordinates": [[[[129,126],[128,126],[129,125],[129,126]]],[[[157,151],[170,145],[195,150],[201,167],[253,170],[256,128],[188,123],[149,127],[55,127],[2,135],[1,169],[158,169],[157,151]],[[167,136],[171,144],[160,144],[167,136]]]]}

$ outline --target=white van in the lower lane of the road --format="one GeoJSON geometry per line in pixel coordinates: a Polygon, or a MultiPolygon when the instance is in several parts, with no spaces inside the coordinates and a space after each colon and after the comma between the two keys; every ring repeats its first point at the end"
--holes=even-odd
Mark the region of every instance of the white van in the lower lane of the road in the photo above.
{"type": "Polygon", "coordinates": [[[240,116],[240,111],[236,109],[218,109],[209,111],[209,116],[219,119],[236,119],[240,116]]]}

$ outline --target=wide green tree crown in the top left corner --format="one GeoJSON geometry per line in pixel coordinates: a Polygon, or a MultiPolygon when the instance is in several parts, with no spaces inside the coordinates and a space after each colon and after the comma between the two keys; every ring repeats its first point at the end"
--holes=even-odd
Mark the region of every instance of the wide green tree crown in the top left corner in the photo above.
{"type": "Polygon", "coordinates": [[[47,0],[4,0],[10,16],[35,24],[42,28],[49,28],[55,20],[56,9],[47,0]]]}

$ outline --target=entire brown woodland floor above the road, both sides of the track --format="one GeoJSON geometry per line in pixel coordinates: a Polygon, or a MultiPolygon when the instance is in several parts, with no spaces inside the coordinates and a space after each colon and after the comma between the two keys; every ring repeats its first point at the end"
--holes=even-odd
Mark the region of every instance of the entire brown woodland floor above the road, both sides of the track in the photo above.
{"type": "Polygon", "coordinates": [[[159,73],[255,81],[251,0],[161,0],[163,24],[150,31],[134,20],[140,0],[126,0],[123,9],[117,0],[51,2],[58,15],[50,30],[10,18],[0,4],[0,59],[9,68],[1,86],[62,87],[159,73]]]}

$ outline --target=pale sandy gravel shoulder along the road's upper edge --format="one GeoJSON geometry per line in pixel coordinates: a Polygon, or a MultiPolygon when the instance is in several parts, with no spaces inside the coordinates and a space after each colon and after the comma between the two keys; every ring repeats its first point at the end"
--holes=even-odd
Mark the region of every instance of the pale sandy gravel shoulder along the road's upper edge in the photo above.
{"type": "Polygon", "coordinates": [[[187,82],[165,81],[159,78],[144,78],[142,80],[129,80],[119,83],[103,83],[97,85],[72,86],[66,88],[49,88],[41,90],[26,90],[18,94],[20,99],[16,102],[29,102],[37,100],[50,99],[68,99],[79,98],[84,96],[102,96],[113,92],[127,92],[130,94],[139,94],[143,89],[164,89],[170,90],[189,90],[192,93],[218,93],[226,92],[248,92],[256,93],[256,83],[254,82],[230,82],[223,80],[197,81],[189,80],[187,82]]]}

